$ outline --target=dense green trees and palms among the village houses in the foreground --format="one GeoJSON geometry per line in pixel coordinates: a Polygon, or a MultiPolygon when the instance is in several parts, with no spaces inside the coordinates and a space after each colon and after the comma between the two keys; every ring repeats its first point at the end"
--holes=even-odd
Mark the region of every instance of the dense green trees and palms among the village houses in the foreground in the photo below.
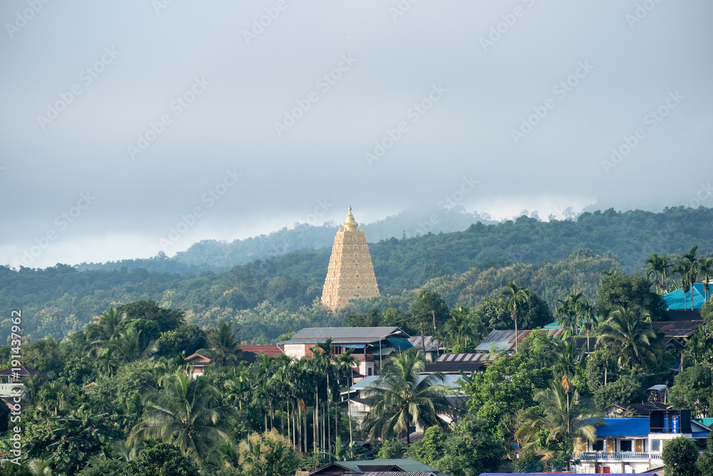
{"type": "MultiPolygon", "coordinates": [[[[0,405],[0,475],[292,476],[334,460],[394,457],[453,476],[569,469],[575,438],[593,440],[606,407],[640,402],[649,385],[669,383],[676,408],[713,415],[713,300],[681,353],[652,328],[665,316],[660,293],[673,275],[684,289],[713,278],[713,258],[694,247],[671,259],[671,273],[661,277],[663,256],[647,260],[653,280],[612,268],[598,276],[594,300],[563,293],[555,315],[513,281],[474,308],[451,309],[424,289],[404,310],[349,315],[350,325],[398,321],[411,333],[430,329],[432,316],[452,352],[472,352],[488,328],[513,321],[536,327],[556,318],[569,335],[593,338],[587,354],[567,334],[531,333],[514,354],[462,375],[460,390],[437,373],[419,377],[425,362],[418,349],[393,354],[379,372],[381,384],[366,390],[370,410],[361,421],[338,405],[356,358],[352,349],[337,354],[331,339],[312,356],[261,355],[247,365],[235,321],[200,328],[188,313],[145,300],[108,308],[61,342],[23,338],[0,347],[1,366],[16,365],[20,354],[44,374],[24,378],[14,426],[0,405]],[[212,359],[199,378],[188,376],[185,356],[193,352],[212,359]],[[420,440],[401,438],[412,422],[426,428],[420,440]]],[[[593,253],[575,253],[563,268],[585,263],[586,276],[593,260],[593,253]]],[[[14,325],[28,322],[24,314],[12,318],[14,325]]],[[[699,457],[692,440],[667,441],[663,461],[677,470],[669,474],[710,474],[713,436],[709,445],[699,457]]]]}

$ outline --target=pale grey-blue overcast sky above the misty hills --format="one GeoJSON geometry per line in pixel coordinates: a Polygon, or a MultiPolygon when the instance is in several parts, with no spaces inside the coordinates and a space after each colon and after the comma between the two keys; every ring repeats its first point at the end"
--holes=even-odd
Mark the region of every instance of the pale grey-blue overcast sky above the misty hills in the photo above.
{"type": "Polygon", "coordinates": [[[362,223],[446,198],[713,206],[707,0],[4,0],[0,20],[0,263],[173,255],[350,199],[362,223]]]}

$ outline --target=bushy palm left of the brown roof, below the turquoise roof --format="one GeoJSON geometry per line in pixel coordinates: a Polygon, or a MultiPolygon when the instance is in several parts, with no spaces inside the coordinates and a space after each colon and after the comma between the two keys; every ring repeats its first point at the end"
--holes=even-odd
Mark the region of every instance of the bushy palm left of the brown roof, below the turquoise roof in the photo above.
{"type": "Polygon", "coordinates": [[[645,368],[662,351],[660,338],[645,320],[647,315],[638,307],[618,308],[599,326],[597,343],[613,349],[622,368],[645,368]]]}

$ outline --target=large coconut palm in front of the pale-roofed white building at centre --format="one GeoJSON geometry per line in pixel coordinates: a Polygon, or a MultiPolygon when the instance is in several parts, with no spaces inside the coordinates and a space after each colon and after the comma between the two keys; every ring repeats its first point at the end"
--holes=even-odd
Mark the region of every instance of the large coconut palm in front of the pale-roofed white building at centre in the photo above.
{"type": "Polygon", "coordinates": [[[451,413],[453,407],[446,399],[445,378],[441,373],[419,375],[424,366],[418,350],[406,350],[386,360],[376,384],[365,389],[364,404],[370,409],[364,429],[372,438],[406,431],[406,442],[411,444],[409,426],[446,426],[439,414],[451,413]]]}

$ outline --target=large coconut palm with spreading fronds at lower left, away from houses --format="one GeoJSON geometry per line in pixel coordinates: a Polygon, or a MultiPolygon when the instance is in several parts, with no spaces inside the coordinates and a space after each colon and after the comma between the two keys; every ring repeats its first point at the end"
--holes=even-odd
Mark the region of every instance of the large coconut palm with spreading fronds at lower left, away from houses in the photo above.
{"type": "Polygon", "coordinates": [[[128,444],[158,440],[174,445],[195,462],[228,440],[224,428],[229,407],[219,405],[220,395],[205,378],[190,378],[183,371],[168,375],[160,390],[143,396],[143,421],[135,425],[128,444]]]}

